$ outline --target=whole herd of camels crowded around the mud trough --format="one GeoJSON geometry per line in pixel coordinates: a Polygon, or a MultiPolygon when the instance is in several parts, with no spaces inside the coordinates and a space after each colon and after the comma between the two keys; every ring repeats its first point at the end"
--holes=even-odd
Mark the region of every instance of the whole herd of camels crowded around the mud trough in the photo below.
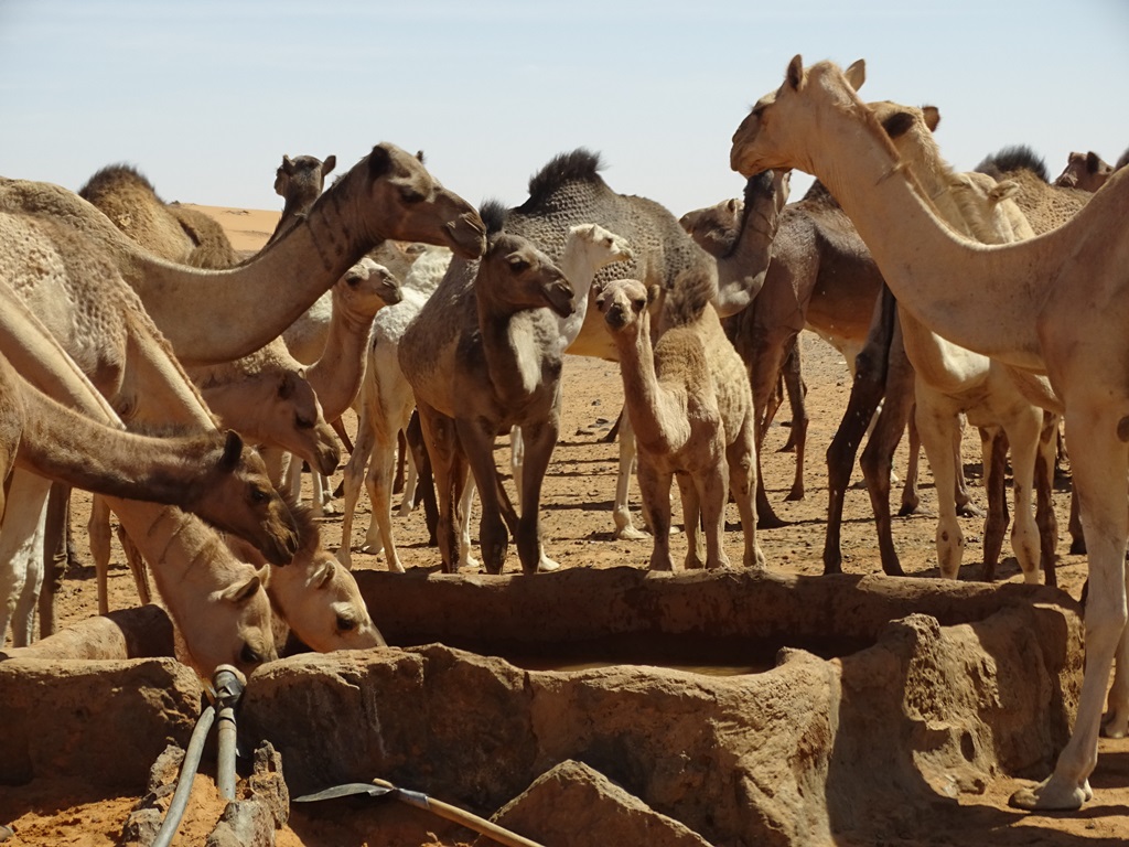
{"type": "MultiPolygon", "coordinates": [[[[351,521],[364,482],[365,549],[403,569],[391,522],[397,451],[434,482],[445,571],[471,561],[475,491],[485,569],[501,573],[513,538],[523,573],[552,570],[539,513],[566,355],[619,363],[616,535],[642,535],[628,508],[637,469],[651,568],[674,568],[674,482],[684,567],[729,565],[732,499],[742,562],[764,568],[756,529],[778,518],[758,453],[782,382],[798,459],[789,496],[803,496],[796,339],[811,329],[854,374],[828,453],[828,573],[840,569],[842,496],[868,428],[882,565],[901,573],[890,464],[912,424],[937,490],[952,492],[938,497],[937,556],[957,576],[966,419],[984,448],[988,576],[1009,455],[1016,558],[1026,582],[1053,583],[1050,487],[1065,421],[1071,531],[1091,561],[1086,671],[1053,774],[1013,802],[1078,807],[1092,796],[1115,657],[1104,728],[1129,732],[1129,151],[1114,167],[1073,154],[1053,184],[1023,149],[957,173],[933,138],[937,111],[865,103],[864,76],[861,62],[805,68],[796,56],[734,134],[744,197],[681,220],[613,191],[584,149],[551,160],[523,204],[478,210],[422,155],[392,145],[329,187],[333,157],[285,157],[282,216],[250,256],[128,167],[78,193],[0,180],[0,627],[28,644],[38,608],[50,631],[44,551],[63,534],[73,486],[96,495],[99,610],[113,510],[142,600],[148,561],[202,674],[275,657],[279,618],[314,649],[383,644],[349,570],[351,521]],[[793,168],[817,182],[789,203],[793,168]],[[338,466],[349,408],[359,426],[331,553],[294,494],[303,462],[315,480],[338,466]],[[516,500],[493,457],[507,433],[516,500]]],[[[916,506],[913,480],[911,469],[903,508],[916,506]]],[[[412,499],[409,483],[405,507],[412,499]]]]}

